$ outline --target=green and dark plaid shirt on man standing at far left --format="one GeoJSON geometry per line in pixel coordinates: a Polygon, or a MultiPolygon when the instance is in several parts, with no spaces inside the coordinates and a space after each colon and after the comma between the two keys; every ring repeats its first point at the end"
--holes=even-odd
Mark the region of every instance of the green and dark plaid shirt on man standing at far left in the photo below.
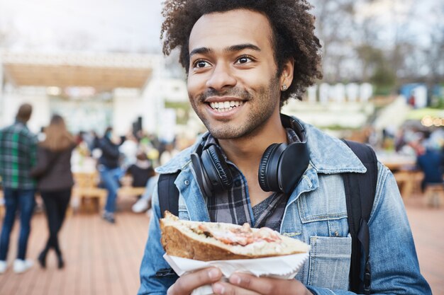
{"type": "Polygon", "coordinates": [[[4,187],[33,189],[29,170],[35,165],[38,140],[23,122],[0,130],[0,176],[4,187]]]}

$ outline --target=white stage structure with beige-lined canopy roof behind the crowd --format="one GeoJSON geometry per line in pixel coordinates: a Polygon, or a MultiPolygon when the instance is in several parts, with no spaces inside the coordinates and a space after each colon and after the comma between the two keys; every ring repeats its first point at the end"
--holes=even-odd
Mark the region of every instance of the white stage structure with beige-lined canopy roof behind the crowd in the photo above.
{"type": "Polygon", "coordinates": [[[112,125],[123,133],[143,117],[156,132],[164,98],[148,84],[164,77],[160,54],[0,51],[0,127],[26,102],[34,106],[33,131],[59,112],[75,129],[112,125]]]}

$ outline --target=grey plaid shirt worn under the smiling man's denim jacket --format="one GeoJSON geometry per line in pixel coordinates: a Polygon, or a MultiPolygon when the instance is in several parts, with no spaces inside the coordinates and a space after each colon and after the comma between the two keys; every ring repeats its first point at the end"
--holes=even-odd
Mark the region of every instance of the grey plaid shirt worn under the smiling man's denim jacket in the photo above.
{"type": "MultiPolygon", "coordinates": [[[[287,139],[289,143],[299,141],[296,132],[291,128],[287,128],[287,139]]],[[[218,146],[216,139],[209,134],[204,143],[204,149],[211,144],[218,146]]],[[[223,151],[222,154],[226,158],[223,151]]],[[[214,197],[206,199],[210,220],[240,225],[247,222],[255,228],[267,226],[279,231],[289,196],[282,192],[273,192],[270,197],[256,204],[255,207],[251,207],[245,176],[233,162],[228,161],[227,158],[226,162],[233,175],[233,187],[230,190],[217,192],[214,197]]]]}

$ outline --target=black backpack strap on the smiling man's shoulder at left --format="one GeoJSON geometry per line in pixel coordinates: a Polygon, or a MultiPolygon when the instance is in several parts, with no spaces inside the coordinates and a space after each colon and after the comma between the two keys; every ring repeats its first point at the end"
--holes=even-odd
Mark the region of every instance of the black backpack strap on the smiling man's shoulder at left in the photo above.
{"type": "Polygon", "coordinates": [[[159,195],[160,214],[164,215],[165,210],[179,216],[179,190],[174,185],[180,171],[170,174],[160,174],[157,180],[157,195],[159,195]]]}

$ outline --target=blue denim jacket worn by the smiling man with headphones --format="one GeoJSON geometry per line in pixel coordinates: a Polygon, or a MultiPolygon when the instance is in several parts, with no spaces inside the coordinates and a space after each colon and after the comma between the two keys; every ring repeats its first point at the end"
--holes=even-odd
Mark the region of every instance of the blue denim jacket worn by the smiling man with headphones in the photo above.
{"type": "MultiPolygon", "coordinates": [[[[348,291],[351,238],[348,232],[345,189],[340,173],[365,173],[365,166],[348,146],[315,127],[304,124],[310,164],[289,197],[280,232],[311,245],[309,260],[296,279],[313,294],[354,294],[348,291]]],[[[190,153],[185,149],[158,173],[181,170],[179,218],[209,221],[208,210],[194,177],[190,153]]],[[[177,277],[167,274],[162,258],[159,199],[152,195],[153,217],[140,267],[139,295],[166,294],[177,277]]],[[[377,191],[369,220],[372,294],[431,294],[419,271],[414,240],[394,176],[378,163],[377,191]]]]}

